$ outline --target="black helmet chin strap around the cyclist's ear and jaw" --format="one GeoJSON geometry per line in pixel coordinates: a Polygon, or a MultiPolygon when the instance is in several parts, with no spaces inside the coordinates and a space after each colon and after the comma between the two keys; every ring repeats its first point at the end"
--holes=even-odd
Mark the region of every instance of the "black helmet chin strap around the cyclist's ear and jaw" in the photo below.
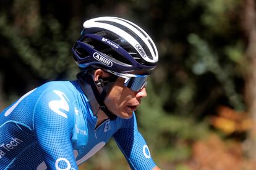
{"type": "Polygon", "coordinates": [[[108,92],[111,90],[114,82],[117,79],[117,76],[111,75],[111,78],[108,79],[108,81],[104,81],[103,79],[99,79],[98,81],[93,81],[93,76],[90,75],[87,71],[81,71],[77,78],[79,79],[79,83],[82,87],[83,92],[85,92],[85,81],[89,83],[92,87],[93,94],[95,95],[95,99],[100,105],[100,109],[104,111],[104,113],[108,116],[109,119],[114,120],[116,119],[116,115],[111,113],[111,111],[108,110],[106,107],[104,100],[108,92]],[[96,84],[95,84],[96,83],[96,84]],[[101,94],[98,92],[97,87],[102,87],[103,91],[101,94]]]}

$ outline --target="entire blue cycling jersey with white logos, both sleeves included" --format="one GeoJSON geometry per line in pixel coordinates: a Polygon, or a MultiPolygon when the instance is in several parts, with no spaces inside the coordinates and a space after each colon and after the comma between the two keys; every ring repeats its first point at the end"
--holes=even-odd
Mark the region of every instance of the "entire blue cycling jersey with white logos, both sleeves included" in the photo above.
{"type": "Polygon", "coordinates": [[[43,84],[0,114],[0,169],[78,169],[112,136],[130,168],[155,167],[135,115],[96,122],[78,81],[43,84]]]}

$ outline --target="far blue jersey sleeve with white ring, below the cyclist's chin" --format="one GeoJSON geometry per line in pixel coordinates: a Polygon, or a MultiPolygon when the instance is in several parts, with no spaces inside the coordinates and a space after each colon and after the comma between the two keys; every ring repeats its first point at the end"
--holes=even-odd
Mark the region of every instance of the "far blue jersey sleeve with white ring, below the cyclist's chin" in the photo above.
{"type": "Polygon", "coordinates": [[[132,169],[152,169],[156,166],[151,158],[148,145],[137,129],[135,115],[124,119],[125,124],[115,134],[116,144],[126,157],[132,169]]]}

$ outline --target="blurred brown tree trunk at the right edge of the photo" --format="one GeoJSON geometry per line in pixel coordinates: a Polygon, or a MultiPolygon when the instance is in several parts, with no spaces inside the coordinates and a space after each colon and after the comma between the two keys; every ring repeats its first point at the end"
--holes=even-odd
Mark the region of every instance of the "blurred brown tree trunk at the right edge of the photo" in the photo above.
{"type": "Polygon", "coordinates": [[[245,75],[245,102],[247,111],[254,121],[247,140],[247,154],[256,160],[256,12],[255,0],[245,0],[242,18],[242,27],[247,38],[245,57],[247,73],[245,75]]]}

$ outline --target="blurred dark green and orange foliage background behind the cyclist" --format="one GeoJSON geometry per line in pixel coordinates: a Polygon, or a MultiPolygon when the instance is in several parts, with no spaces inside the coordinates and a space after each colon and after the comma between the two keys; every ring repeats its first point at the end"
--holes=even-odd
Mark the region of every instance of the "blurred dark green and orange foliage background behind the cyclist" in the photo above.
{"type": "MultiPolygon", "coordinates": [[[[47,81],[75,79],[82,23],[141,26],[160,62],[137,111],[162,169],[256,169],[254,0],[1,0],[0,110],[47,81]]],[[[129,169],[113,140],[80,169],[129,169]]]]}

